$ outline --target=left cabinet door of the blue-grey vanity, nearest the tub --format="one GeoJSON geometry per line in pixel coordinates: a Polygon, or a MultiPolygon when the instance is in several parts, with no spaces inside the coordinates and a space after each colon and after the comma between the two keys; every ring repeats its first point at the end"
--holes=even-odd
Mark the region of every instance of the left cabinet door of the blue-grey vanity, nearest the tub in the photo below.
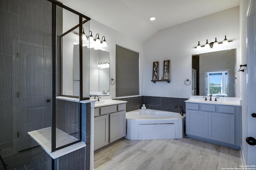
{"type": "Polygon", "coordinates": [[[208,112],[187,109],[186,134],[208,138],[208,112]]]}

